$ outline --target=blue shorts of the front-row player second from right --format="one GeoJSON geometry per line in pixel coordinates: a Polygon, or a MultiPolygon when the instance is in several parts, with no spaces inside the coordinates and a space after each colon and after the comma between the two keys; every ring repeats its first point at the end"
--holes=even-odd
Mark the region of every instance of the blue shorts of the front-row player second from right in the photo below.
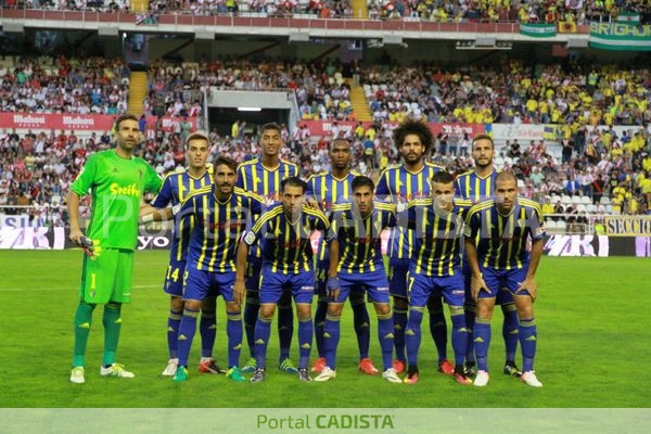
{"type": "Polygon", "coordinates": [[[409,272],[409,306],[425,307],[432,295],[443,296],[448,306],[463,306],[465,289],[461,270],[455,276],[436,277],[409,272]]]}

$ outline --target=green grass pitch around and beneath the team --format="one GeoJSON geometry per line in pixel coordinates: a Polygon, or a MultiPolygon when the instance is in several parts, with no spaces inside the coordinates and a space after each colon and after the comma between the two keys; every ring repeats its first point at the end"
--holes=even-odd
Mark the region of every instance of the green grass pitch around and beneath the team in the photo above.
{"type": "MultiPolygon", "coordinates": [[[[103,331],[101,308],[93,317],[87,353],[87,382],[68,381],[73,315],[81,266],[79,251],[0,251],[0,315],[3,407],[648,407],[651,384],[650,263],[641,258],[552,258],[540,265],[536,302],[536,371],[545,383],[534,390],[501,373],[501,314],[494,319],[488,387],[460,386],[436,372],[434,345],[424,332],[416,385],[390,384],[356,371],[356,342],[347,307],[342,321],[337,379],[301,383],[275,369],[273,326],[269,374],[261,384],[232,383],[196,372],[199,333],[190,380],[161,376],[167,361],[168,296],[161,284],[167,252],[136,256],[132,303],[123,309],[118,361],[133,380],[99,374],[103,331]]],[[[369,306],[371,309],[372,307],[369,306]]],[[[373,314],[371,310],[371,318],[373,314]]],[[[380,363],[375,322],[371,357],[380,363]]],[[[218,306],[215,358],[226,362],[224,305],[218,306]]],[[[423,322],[426,328],[426,318],[423,322]]],[[[293,348],[293,359],[297,350],[293,348]]],[[[451,348],[449,349],[451,355],[451,348]]],[[[247,356],[243,352],[242,360],[247,356]]],[[[519,361],[520,363],[520,361],[519,361]]]]}

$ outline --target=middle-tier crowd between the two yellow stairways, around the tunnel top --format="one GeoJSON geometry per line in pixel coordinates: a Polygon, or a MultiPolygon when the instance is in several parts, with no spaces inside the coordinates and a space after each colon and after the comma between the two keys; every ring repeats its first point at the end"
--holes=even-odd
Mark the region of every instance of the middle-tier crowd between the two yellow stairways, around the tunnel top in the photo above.
{"type": "Polygon", "coordinates": [[[148,115],[200,116],[204,95],[221,90],[290,89],[295,92],[303,119],[350,120],[350,88],[344,65],[337,61],[283,62],[215,60],[173,64],[154,61],[149,66],[148,115]]]}

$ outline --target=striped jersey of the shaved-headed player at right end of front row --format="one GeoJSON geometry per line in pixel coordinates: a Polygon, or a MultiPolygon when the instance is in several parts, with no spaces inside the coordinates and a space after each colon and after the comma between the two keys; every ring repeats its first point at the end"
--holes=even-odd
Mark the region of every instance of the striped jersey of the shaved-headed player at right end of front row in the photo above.
{"type": "Polygon", "coordinates": [[[510,270],[528,266],[529,239],[545,238],[540,204],[518,196],[507,216],[497,210],[494,199],[475,204],[465,218],[465,238],[477,240],[481,267],[510,270]]]}

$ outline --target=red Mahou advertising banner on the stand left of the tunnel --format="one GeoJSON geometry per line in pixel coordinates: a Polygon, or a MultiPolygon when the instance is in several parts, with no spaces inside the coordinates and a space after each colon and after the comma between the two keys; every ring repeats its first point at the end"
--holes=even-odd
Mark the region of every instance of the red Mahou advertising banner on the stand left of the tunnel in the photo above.
{"type": "MultiPolygon", "coordinates": [[[[0,128],[110,131],[116,118],[116,115],[0,112],[0,128]]],[[[154,128],[157,120],[156,116],[148,116],[148,128],[154,128]]],[[[194,131],[196,129],[196,118],[188,118],[188,120],[192,124],[192,131],[194,131]]],[[[180,118],[163,117],[161,129],[165,132],[171,132],[175,130],[177,123],[180,122],[180,118]]]]}

